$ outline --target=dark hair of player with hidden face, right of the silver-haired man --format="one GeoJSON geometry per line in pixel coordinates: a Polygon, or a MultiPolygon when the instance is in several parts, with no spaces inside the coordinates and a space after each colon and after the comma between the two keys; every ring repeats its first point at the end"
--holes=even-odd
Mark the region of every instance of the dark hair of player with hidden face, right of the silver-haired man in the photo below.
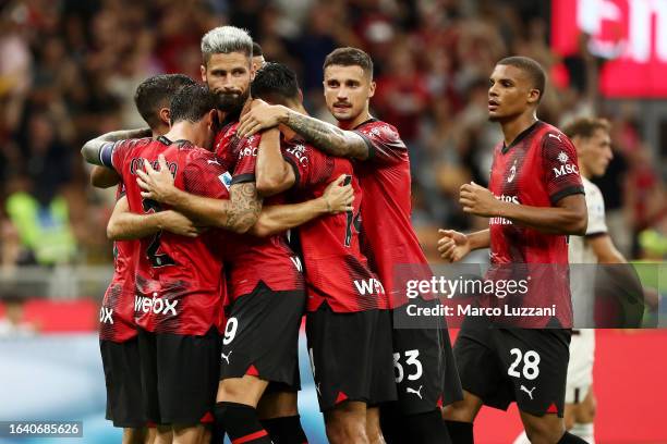
{"type": "Polygon", "coordinates": [[[299,100],[296,74],[282,63],[267,62],[255,74],[251,95],[278,104],[299,100]]]}

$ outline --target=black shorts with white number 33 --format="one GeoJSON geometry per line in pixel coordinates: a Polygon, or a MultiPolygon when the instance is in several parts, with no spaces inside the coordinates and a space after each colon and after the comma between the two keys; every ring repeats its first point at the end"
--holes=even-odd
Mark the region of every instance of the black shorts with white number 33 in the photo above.
{"type": "MultiPolygon", "coordinates": [[[[429,307],[438,304],[438,300],[415,298],[411,304],[429,307]]],[[[395,317],[405,316],[405,308],[395,308],[392,321],[398,321],[395,317]]],[[[393,371],[399,406],[404,415],[432,411],[463,399],[447,324],[445,318],[440,320],[440,328],[433,328],[433,320],[429,320],[428,328],[417,324],[392,331],[393,371]]],[[[419,322],[419,319],[412,323],[415,321],[419,322]]]]}

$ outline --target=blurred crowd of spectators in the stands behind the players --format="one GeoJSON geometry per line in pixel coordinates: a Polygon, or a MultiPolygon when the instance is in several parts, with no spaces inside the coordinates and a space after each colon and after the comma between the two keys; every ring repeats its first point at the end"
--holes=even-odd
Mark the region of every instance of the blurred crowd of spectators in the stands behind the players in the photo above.
{"type": "MultiPolygon", "coordinates": [[[[615,159],[603,189],[616,244],[632,258],[667,252],[659,152],[642,138],[639,102],[610,106],[602,62],[550,49],[549,2],[532,0],[20,0],[0,1],[0,263],[106,263],[113,193],[94,190],[80,156],[100,133],[144,126],[132,97],[146,77],[199,79],[199,39],[245,27],[267,60],[295,69],[306,108],[329,119],[324,58],[339,46],[376,64],[375,114],[396,125],[413,170],[413,222],[437,260],[437,227],[471,230],[459,186],[486,184],[498,125],[487,121],[487,76],[508,54],[550,74],[539,118],[561,125],[598,113],[613,123],[615,159]]],[[[583,42],[582,42],[583,44],[583,42]]],[[[585,45],[582,45],[585,48],[585,45]]]]}

